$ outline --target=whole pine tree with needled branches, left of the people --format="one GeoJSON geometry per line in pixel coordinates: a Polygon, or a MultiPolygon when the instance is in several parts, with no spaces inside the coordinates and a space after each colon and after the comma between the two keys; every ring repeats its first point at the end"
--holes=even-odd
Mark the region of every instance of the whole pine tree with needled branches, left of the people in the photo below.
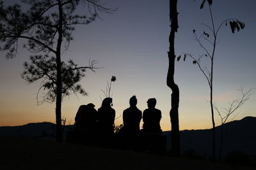
{"type": "Polygon", "coordinates": [[[61,52],[68,49],[76,25],[90,24],[99,17],[99,12],[112,13],[115,9],[104,7],[100,0],[21,1],[30,8],[22,11],[19,4],[4,7],[0,1],[0,50],[6,50],[6,57],[13,58],[17,55],[19,39],[26,39],[24,47],[29,52],[47,54],[32,56],[31,64],[24,64],[22,76],[29,82],[42,76],[42,87],[49,90],[45,101],[56,101],[56,139],[62,141],[61,101],[70,90],[85,94],[76,83],[83,77],[84,69],[94,69],[95,62],[82,68],[71,60],[65,64],[61,62],[61,52]],[[77,14],[78,6],[86,8],[89,17],[77,14]],[[49,53],[53,53],[52,57],[48,57],[49,53]],[[45,65],[39,63],[43,61],[45,65]],[[74,82],[70,84],[68,79],[74,82]]]}

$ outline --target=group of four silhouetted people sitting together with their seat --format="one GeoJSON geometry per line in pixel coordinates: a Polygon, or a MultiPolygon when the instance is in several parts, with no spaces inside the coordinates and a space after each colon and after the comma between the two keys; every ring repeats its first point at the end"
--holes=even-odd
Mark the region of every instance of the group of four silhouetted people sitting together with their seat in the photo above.
{"type": "Polygon", "coordinates": [[[148,108],[142,113],[136,106],[136,96],[132,96],[129,100],[130,107],[123,112],[124,126],[118,134],[114,134],[115,110],[111,107],[112,103],[112,98],[106,97],[98,111],[95,110],[95,105],[92,103],[81,105],[74,124],[76,136],[83,139],[86,144],[102,146],[111,145],[113,138],[119,136],[118,139],[121,143],[126,143],[126,146],[129,145],[132,148],[136,148],[135,145],[141,141],[141,136],[146,136],[143,139],[147,139],[147,136],[161,136],[161,111],[155,108],[155,98],[148,99],[148,108]],[[141,119],[143,120],[143,129],[140,129],[141,119]]]}

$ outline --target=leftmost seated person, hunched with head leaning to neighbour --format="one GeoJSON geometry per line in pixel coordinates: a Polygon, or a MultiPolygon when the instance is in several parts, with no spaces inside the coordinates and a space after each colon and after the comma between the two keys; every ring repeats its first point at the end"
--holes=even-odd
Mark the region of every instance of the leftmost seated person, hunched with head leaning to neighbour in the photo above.
{"type": "Polygon", "coordinates": [[[87,105],[81,105],[76,113],[75,118],[75,131],[76,132],[86,132],[92,133],[93,128],[97,122],[97,111],[95,110],[95,105],[89,103],[87,105]]]}

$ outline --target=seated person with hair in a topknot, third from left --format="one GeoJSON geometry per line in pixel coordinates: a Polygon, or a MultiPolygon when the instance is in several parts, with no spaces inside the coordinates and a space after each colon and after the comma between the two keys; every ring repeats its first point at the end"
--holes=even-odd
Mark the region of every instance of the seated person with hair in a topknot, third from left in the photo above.
{"type": "Polygon", "coordinates": [[[140,132],[140,120],[142,117],[142,112],[136,107],[136,96],[132,96],[129,103],[130,108],[127,108],[123,112],[123,131],[126,134],[136,135],[138,132],[140,132]]]}

